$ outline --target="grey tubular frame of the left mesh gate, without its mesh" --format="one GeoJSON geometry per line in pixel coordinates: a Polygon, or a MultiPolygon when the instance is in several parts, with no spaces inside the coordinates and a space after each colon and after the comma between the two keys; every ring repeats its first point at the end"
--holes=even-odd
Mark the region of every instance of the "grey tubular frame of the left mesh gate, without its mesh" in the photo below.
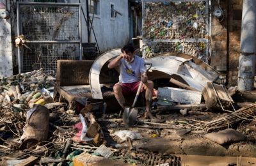
{"type": "MultiPolygon", "coordinates": [[[[45,41],[26,41],[26,43],[78,43],[79,44],[79,60],[82,60],[82,27],[81,27],[81,4],[80,3],[32,3],[32,2],[17,2],[17,36],[22,32],[20,22],[20,6],[22,5],[38,5],[38,6],[77,6],[79,7],[79,40],[45,40],[45,41]]],[[[18,61],[19,73],[22,73],[22,57],[20,55],[20,48],[18,47],[18,61]]]]}

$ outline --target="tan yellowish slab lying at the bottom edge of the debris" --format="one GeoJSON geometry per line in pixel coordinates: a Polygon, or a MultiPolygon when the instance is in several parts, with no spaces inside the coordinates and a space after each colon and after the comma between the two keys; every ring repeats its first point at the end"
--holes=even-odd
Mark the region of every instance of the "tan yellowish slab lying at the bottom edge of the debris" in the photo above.
{"type": "Polygon", "coordinates": [[[129,163],[118,162],[116,160],[111,160],[109,158],[104,158],[96,155],[91,155],[89,153],[82,153],[73,160],[74,166],[132,166],[129,163]]]}

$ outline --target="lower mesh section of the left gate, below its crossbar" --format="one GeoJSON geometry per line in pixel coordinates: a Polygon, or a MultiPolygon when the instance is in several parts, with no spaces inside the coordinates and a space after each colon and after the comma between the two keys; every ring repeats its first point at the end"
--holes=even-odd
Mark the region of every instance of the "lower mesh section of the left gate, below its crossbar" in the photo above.
{"type": "Polygon", "coordinates": [[[22,51],[23,70],[31,72],[44,68],[45,73],[52,75],[58,60],[79,60],[79,51],[77,43],[29,43],[22,51]]]}

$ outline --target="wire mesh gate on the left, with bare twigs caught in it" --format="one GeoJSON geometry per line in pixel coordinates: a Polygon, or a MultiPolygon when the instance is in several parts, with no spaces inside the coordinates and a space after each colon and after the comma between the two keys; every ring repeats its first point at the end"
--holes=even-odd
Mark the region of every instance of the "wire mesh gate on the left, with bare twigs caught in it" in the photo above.
{"type": "Polygon", "coordinates": [[[56,72],[59,59],[82,59],[81,6],[65,3],[17,3],[19,72],[44,68],[56,72]]]}

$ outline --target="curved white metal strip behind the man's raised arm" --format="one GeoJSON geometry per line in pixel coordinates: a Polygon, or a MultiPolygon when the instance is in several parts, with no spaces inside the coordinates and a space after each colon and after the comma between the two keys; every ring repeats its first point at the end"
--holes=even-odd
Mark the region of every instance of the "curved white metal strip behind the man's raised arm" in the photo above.
{"type": "Polygon", "coordinates": [[[92,68],[89,74],[89,81],[93,99],[103,99],[99,82],[100,70],[102,66],[104,66],[104,64],[109,61],[109,59],[112,59],[121,53],[121,49],[110,50],[99,56],[92,64],[92,68]]]}

